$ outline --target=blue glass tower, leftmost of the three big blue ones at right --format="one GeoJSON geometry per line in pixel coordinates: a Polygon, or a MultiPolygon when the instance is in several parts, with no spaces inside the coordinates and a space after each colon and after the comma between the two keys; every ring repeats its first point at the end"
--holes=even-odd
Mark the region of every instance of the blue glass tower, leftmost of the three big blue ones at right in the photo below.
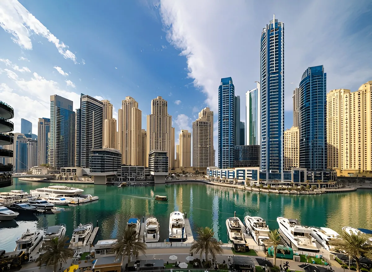
{"type": "Polygon", "coordinates": [[[234,167],[235,91],[232,78],[221,78],[218,87],[218,167],[234,167]]]}

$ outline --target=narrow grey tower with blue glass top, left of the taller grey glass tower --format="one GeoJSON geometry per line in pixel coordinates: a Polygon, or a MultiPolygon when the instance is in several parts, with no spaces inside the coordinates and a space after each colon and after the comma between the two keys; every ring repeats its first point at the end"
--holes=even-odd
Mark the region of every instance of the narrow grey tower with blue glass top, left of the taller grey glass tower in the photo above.
{"type": "Polygon", "coordinates": [[[48,133],[50,132],[50,119],[39,118],[38,122],[38,162],[37,165],[48,163],[48,133]]]}

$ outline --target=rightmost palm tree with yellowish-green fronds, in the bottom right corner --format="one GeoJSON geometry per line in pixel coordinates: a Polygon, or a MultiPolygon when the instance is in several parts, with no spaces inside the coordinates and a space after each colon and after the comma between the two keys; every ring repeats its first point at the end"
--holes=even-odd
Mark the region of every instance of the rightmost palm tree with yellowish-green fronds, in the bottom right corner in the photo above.
{"type": "Polygon", "coordinates": [[[372,257],[372,245],[369,244],[368,236],[360,232],[358,234],[348,233],[345,230],[342,230],[340,236],[341,239],[329,241],[330,245],[335,246],[340,251],[346,252],[350,258],[353,258],[356,262],[356,270],[360,272],[360,257],[362,255],[372,257]]]}

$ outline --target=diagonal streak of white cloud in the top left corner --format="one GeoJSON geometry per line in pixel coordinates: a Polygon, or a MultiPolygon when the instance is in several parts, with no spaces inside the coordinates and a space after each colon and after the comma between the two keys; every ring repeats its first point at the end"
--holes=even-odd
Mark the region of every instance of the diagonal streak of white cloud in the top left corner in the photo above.
{"type": "Polygon", "coordinates": [[[18,1],[0,1],[0,26],[12,34],[12,40],[24,49],[31,50],[31,35],[47,38],[54,43],[58,52],[65,58],[76,62],[76,56],[68,50],[68,46],[60,42],[38,19],[35,18],[18,1]]]}

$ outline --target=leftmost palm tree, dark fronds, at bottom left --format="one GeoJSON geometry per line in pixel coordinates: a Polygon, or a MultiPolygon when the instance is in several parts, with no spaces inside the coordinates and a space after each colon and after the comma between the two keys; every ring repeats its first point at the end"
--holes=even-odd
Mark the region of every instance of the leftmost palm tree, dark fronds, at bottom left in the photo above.
{"type": "Polygon", "coordinates": [[[54,238],[45,241],[41,247],[41,251],[45,253],[36,259],[38,266],[44,263],[46,265],[53,265],[53,271],[57,272],[58,263],[60,261],[67,262],[67,259],[72,258],[74,255],[74,250],[67,247],[70,245],[70,243],[67,243],[68,240],[70,240],[70,238],[66,236],[61,240],[54,238]]]}

